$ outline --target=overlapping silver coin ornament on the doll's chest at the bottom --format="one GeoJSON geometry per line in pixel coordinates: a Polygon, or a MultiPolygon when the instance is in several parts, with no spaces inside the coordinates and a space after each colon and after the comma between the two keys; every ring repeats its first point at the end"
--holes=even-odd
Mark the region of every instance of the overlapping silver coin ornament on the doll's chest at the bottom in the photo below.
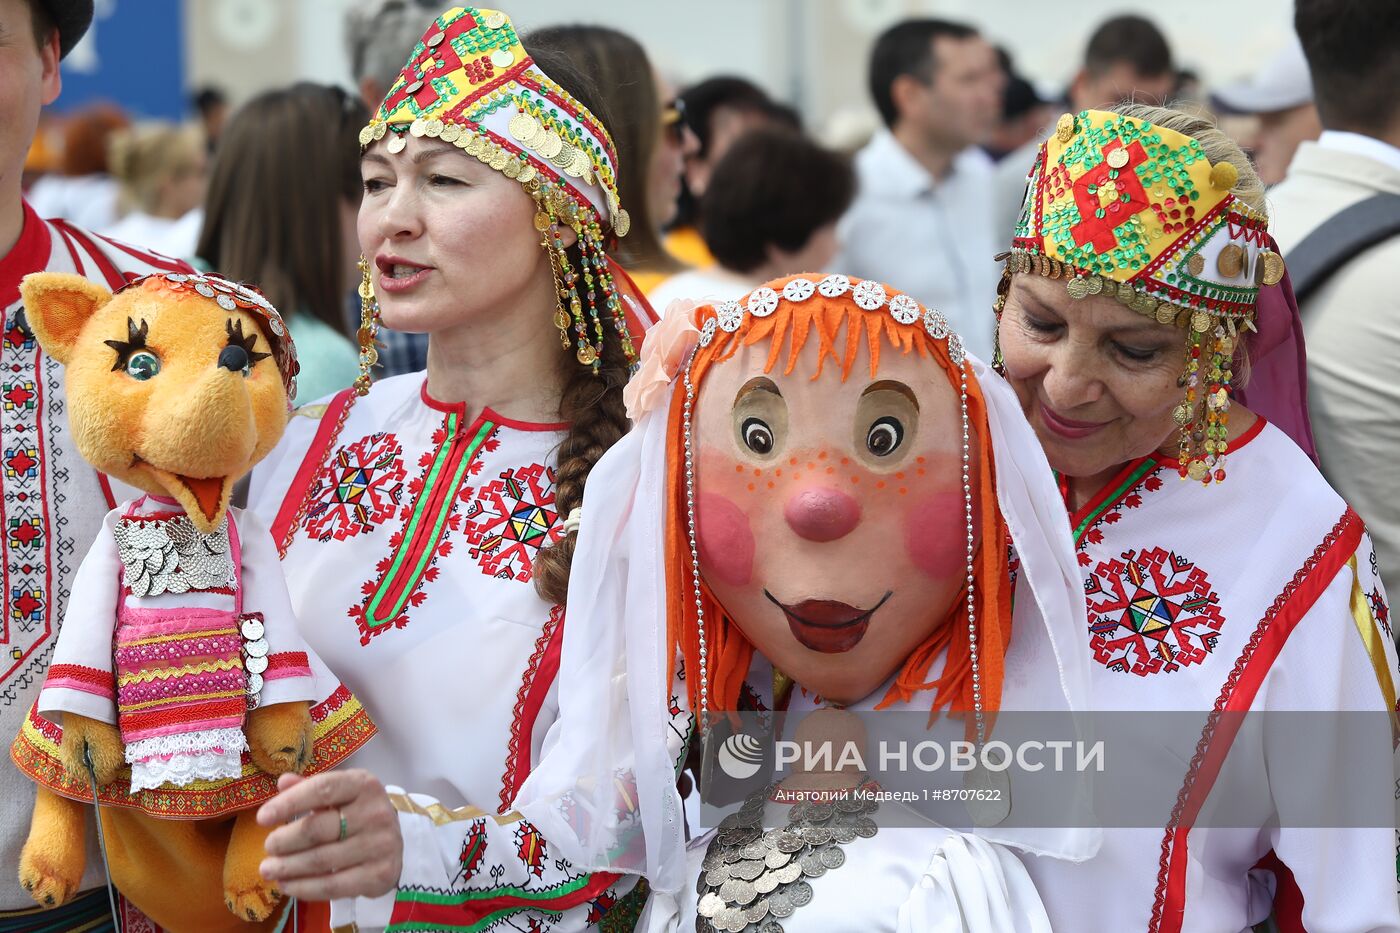
{"type": "Polygon", "coordinates": [[[783,920],[812,902],[808,878],[846,864],[843,845],[876,832],[874,800],[797,803],[783,829],[762,829],[773,786],[724,818],[700,866],[696,932],[783,933],[783,920]]]}

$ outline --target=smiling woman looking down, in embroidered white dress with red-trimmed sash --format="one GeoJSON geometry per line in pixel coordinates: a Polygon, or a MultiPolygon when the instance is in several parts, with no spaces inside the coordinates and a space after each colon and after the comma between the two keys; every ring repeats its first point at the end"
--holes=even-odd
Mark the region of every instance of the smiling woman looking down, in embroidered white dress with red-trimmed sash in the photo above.
{"type": "Polygon", "coordinates": [[[1389,612],[1361,520],[1299,450],[1301,331],[1263,207],[1228,137],[1156,108],[1061,116],[1030,172],[1000,352],[1061,478],[1093,707],[1205,723],[1179,740],[1137,723],[1170,789],[1142,801],[1161,822],[1099,807],[1119,828],[1095,859],[1029,860],[1056,929],[1238,933],[1271,911],[1282,929],[1400,929],[1389,612]],[[1249,710],[1284,719],[1245,728],[1249,710]],[[1303,779],[1277,741],[1309,727],[1294,710],[1376,727],[1306,735],[1322,770],[1303,779]],[[1242,792],[1261,818],[1212,821],[1242,792]],[[1372,820],[1308,828],[1329,824],[1296,799],[1337,794],[1372,820]]]}

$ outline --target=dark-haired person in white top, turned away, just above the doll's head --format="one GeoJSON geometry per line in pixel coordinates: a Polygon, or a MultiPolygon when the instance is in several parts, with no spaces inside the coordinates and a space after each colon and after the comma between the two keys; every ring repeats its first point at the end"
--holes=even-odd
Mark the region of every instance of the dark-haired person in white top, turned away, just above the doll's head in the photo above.
{"type": "Polygon", "coordinates": [[[710,177],[700,233],[715,263],[687,269],[651,290],[661,314],[676,298],[739,298],[769,279],[826,269],[836,221],[855,192],[850,165],[799,132],[749,130],[710,177]]]}

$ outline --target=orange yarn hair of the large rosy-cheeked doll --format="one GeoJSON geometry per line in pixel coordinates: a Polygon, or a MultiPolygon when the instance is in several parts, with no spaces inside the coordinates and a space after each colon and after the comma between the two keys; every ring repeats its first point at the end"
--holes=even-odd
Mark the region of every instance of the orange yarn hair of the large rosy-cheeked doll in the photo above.
{"type": "MultiPolygon", "coordinates": [[[[791,279],[769,282],[767,287],[778,294],[791,279]]],[[[871,378],[879,371],[882,349],[899,353],[918,353],[930,360],[948,377],[956,388],[959,368],[948,357],[946,340],[937,340],[924,331],[921,321],[899,324],[886,308],[865,311],[853,301],[858,279],[851,279],[851,289],[839,298],[813,294],[806,301],[778,301],[777,310],[764,318],[743,315],[739,329],[727,333],[717,329],[708,346],[697,347],[690,364],[690,381],[699,398],[700,385],[711,366],[731,359],[743,346],[769,342],[766,373],[781,366],[784,375],[797,368],[798,356],[809,339],[819,342],[816,373],[822,374],[827,360],[841,370],[844,382],[855,364],[855,356],[864,342],[869,347],[871,378]],[[785,357],[785,359],[784,359],[785,357]]],[[[890,297],[895,293],[886,289],[890,297]]],[[[746,304],[748,298],[741,300],[746,304]]],[[[696,324],[715,317],[711,305],[696,310],[696,324]]],[[[981,709],[994,713],[1001,705],[1002,664],[1007,644],[1011,640],[1011,577],[1008,567],[1009,539],[1007,525],[997,504],[995,468],[991,451],[991,434],[987,426],[987,405],[977,380],[967,370],[967,424],[969,443],[976,445],[976,472],[973,482],[973,514],[980,517],[981,535],[974,552],[974,611],[977,615],[977,661],[981,685],[981,709]]],[[[671,656],[685,658],[686,686],[690,707],[700,710],[700,630],[697,625],[694,583],[690,566],[690,542],[686,516],[685,476],[685,389],[678,385],[672,394],[666,440],[666,586],[673,595],[666,607],[666,639],[671,656]]],[[[714,598],[710,587],[701,579],[700,604],[704,609],[706,660],[710,681],[710,710],[734,710],[738,706],[739,688],[749,672],[753,660],[753,644],[743,636],[739,626],[728,616],[714,598]]],[[[673,671],[672,671],[673,674],[673,671]]],[[[910,702],[921,691],[934,691],[930,702],[930,719],[938,710],[972,710],[972,651],[967,636],[967,594],[959,590],[952,608],[934,628],[930,636],[904,660],[876,709],[892,703],[910,702]],[[928,668],[934,660],[948,651],[942,677],[930,681],[928,668]]],[[[972,723],[969,721],[969,727],[972,723]]]]}

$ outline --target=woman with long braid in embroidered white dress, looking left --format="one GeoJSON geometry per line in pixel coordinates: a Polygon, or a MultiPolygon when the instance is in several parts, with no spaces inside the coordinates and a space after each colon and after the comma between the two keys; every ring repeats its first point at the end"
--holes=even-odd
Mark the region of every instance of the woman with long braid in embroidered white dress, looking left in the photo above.
{"type": "Polygon", "coordinates": [[[386,325],[428,333],[426,377],[302,409],[253,481],[307,642],[381,727],[364,770],[286,782],[262,811],[291,821],[263,871],[344,898],[333,926],[581,929],[629,887],[500,815],[556,716],[566,518],[627,427],[603,247],[627,214],[587,90],[503,13],[428,24],[360,136],[358,223],[365,331],[377,297],[386,325]]]}

